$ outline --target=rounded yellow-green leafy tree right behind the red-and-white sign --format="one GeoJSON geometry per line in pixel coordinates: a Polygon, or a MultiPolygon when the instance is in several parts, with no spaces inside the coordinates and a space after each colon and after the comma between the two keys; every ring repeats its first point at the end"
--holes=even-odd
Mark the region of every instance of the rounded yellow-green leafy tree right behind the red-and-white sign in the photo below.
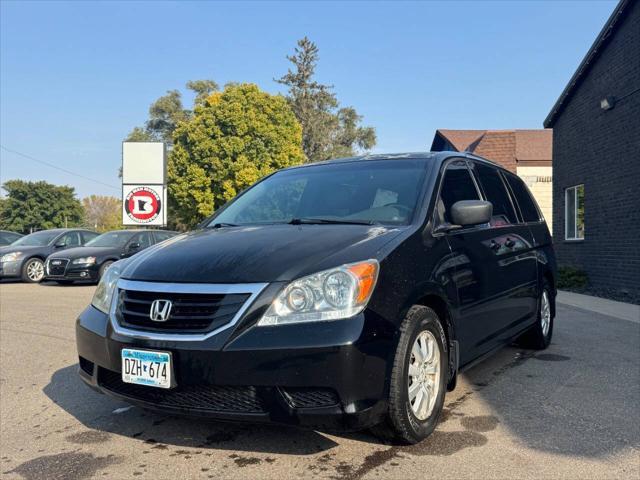
{"type": "Polygon", "coordinates": [[[287,101],[253,84],[230,84],[175,131],[170,215],[185,227],[269,173],[304,161],[302,128],[287,101]]]}

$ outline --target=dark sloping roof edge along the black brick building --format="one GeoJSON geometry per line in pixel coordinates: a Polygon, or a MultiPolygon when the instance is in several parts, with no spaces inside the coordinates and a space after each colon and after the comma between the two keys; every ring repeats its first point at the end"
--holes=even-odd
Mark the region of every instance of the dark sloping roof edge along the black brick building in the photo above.
{"type": "Polygon", "coordinates": [[[607,23],[604,24],[604,27],[602,27],[602,30],[596,37],[593,45],[591,45],[591,48],[582,59],[582,62],[580,62],[578,69],[569,80],[567,86],[564,87],[564,90],[560,94],[558,100],[556,100],[556,103],[553,105],[553,108],[549,112],[549,115],[547,115],[547,118],[544,119],[543,125],[545,126],[545,128],[553,127],[558,116],[564,109],[565,105],[567,105],[569,98],[571,97],[577,86],[580,84],[582,79],[585,77],[585,75],[587,75],[589,69],[591,68],[591,65],[596,62],[600,55],[600,52],[602,52],[602,50],[604,49],[607,41],[613,36],[617,28],[622,23],[622,19],[630,10],[629,7],[635,1],[636,0],[620,0],[618,5],[616,5],[616,8],[613,10],[613,13],[607,20],[607,23]]]}

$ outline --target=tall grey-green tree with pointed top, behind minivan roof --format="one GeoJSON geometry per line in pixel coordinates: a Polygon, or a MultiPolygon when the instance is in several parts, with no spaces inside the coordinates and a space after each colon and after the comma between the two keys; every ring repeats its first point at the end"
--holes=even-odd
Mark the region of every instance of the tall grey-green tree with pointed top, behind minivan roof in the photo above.
{"type": "Polygon", "coordinates": [[[314,79],[318,47],[307,37],[287,56],[293,69],[276,81],[289,88],[291,109],[302,125],[302,148],[310,162],[349,156],[376,144],[372,127],[362,127],[353,107],[340,108],[331,85],[314,79]]]}

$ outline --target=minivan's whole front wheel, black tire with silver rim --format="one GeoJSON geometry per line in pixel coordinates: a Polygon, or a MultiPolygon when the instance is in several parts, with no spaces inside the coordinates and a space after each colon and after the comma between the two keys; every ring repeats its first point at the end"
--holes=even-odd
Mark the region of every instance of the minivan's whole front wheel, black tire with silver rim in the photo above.
{"type": "Polygon", "coordinates": [[[414,305],[400,326],[400,340],[389,385],[389,410],[386,419],[372,429],[374,435],[405,444],[415,444],[427,438],[438,424],[442,412],[448,365],[447,340],[438,315],[428,307],[414,305]],[[427,349],[427,361],[421,362],[414,348],[417,346],[420,351],[424,341],[432,349],[427,349]],[[410,393],[412,386],[416,387],[410,393]],[[418,404],[420,400],[422,408],[418,404]]]}

